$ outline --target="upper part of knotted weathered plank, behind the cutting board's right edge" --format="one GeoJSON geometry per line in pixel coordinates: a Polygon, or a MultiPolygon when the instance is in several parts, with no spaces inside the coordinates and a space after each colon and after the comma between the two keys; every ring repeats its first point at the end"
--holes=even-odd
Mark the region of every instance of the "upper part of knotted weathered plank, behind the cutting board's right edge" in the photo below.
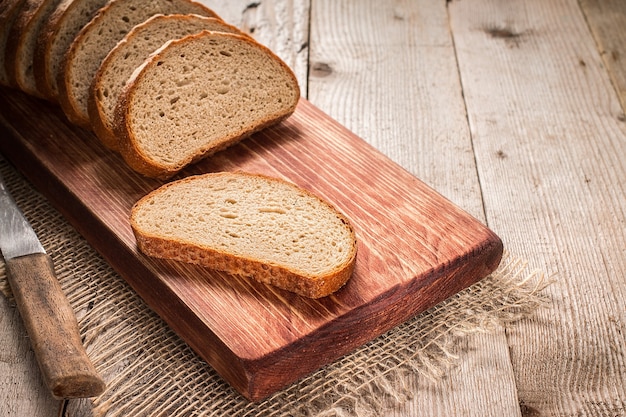
{"type": "Polygon", "coordinates": [[[445,1],[313,3],[309,100],[483,218],[445,1]]]}

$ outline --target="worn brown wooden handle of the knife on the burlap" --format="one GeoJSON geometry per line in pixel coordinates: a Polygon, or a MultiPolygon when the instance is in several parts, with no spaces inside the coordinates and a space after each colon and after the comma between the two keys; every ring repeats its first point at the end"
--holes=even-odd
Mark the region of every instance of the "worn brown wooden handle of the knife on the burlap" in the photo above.
{"type": "Polygon", "coordinates": [[[6,261],[13,291],[43,379],[58,399],[95,397],[105,383],[89,360],[78,322],[43,253],[6,261]]]}

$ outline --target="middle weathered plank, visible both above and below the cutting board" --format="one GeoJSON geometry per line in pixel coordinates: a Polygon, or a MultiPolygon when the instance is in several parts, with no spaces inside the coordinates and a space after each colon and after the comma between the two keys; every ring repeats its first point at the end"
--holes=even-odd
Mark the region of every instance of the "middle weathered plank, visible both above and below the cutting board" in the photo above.
{"type": "MultiPolygon", "coordinates": [[[[316,1],[309,98],[484,218],[446,2],[316,1]]],[[[519,414],[504,332],[463,342],[463,364],[390,415],[519,414]]]]}

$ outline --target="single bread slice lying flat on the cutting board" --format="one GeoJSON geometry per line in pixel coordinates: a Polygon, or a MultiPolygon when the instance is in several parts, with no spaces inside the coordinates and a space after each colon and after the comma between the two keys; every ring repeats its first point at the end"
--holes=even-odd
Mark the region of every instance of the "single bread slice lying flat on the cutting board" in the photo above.
{"type": "Polygon", "coordinates": [[[135,204],[131,226],[148,256],[200,264],[320,298],[350,278],[348,219],[296,185],[220,172],[166,184],[135,204]]]}

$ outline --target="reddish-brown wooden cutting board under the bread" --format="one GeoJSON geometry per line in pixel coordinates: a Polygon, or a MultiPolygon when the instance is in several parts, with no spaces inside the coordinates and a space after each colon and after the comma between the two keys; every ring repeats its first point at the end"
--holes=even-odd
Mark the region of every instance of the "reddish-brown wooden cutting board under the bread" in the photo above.
{"type": "Polygon", "coordinates": [[[259,400],[493,271],[500,239],[302,100],[280,125],[181,173],[282,177],[330,201],[359,242],[353,277],[308,300],[138,253],[131,206],[162,183],[130,171],[59,109],[0,90],[0,151],[202,358],[259,400]]]}

